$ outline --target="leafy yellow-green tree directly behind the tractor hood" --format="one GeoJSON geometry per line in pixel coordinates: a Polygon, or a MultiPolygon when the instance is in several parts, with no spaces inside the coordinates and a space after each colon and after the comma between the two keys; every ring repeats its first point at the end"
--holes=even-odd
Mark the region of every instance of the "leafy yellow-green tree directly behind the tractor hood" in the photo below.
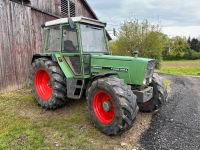
{"type": "Polygon", "coordinates": [[[116,41],[110,44],[110,48],[117,55],[134,55],[139,51],[143,57],[155,58],[157,67],[165,47],[165,35],[159,25],[152,25],[148,20],[140,22],[138,19],[125,21],[118,34],[116,41]]]}

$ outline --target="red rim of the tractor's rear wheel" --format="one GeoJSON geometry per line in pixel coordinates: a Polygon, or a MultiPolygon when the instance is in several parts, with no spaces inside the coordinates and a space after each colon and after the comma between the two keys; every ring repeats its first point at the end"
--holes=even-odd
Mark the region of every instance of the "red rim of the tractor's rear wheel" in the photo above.
{"type": "Polygon", "coordinates": [[[39,69],[35,73],[35,87],[39,97],[43,101],[47,101],[52,95],[52,87],[50,85],[50,76],[44,69],[39,69]]]}

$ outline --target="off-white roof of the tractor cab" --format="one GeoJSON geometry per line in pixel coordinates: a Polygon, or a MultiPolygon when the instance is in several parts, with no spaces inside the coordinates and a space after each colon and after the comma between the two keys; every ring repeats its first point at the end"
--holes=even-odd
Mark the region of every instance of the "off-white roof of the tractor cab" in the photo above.
{"type": "MultiPolygon", "coordinates": [[[[105,22],[101,22],[99,20],[91,19],[91,18],[86,18],[86,17],[71,17],[73,22],[81,22],[81,23],[87,23],[87,24],[92,24],[92,25],[97,25],[101,27],[106,27],[105,22]]],[[[59,25],[59,24],[65,24],[69,23],[68,18],[61,18],[61,19],[56,19],[53,21],[48,21],[45,23],[45,26],[53,26],[53,25],[59,25]]]]}

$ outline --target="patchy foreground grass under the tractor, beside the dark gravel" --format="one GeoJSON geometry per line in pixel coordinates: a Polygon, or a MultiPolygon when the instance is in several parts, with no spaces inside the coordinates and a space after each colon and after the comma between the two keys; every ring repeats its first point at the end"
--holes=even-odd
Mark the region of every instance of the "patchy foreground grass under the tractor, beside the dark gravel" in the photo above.
{"type": "Polygon", "coordinates": [[[20,90],[0,93],[0,101],[0,149],[110,150],[121,149],[121,142],[135,149],[151,120],[151,114],[139,113],[131,130],[109,137],[91,123],[85,100],[46,111],[36,105],[29,90],[20,90]]]}

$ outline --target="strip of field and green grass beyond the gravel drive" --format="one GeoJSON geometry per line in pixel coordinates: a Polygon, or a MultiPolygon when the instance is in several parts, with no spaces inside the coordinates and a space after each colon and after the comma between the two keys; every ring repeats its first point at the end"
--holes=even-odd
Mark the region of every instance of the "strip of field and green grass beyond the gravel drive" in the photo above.
{"type": "Polygon", "coordinates": [[[159,72],[174,75],[200,75],[200,60],[163,61],[159,72]]]}

